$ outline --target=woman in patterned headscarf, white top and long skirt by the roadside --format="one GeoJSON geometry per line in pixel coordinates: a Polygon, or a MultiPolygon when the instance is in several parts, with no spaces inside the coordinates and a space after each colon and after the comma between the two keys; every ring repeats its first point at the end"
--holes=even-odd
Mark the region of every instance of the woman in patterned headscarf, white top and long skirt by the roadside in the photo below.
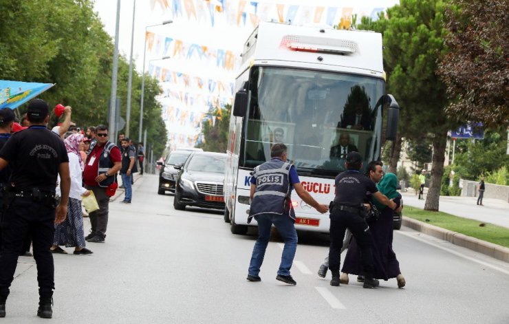
{"type": "MultiPolygon", "coordinates": [[[[83,213],[81,211],[81,196],[87,196],[90,191],[82,186],[83,159],[79,147],[83,142],[83,134],[69,135],[65,140],[65,148],[69,155],[69,174],[71,176],[71,190],[69,191],[69,204],[67,205],[67,218],[61,224],[55,225],[55,236],[52,253],[67,254],[60,246],[74,247],[75,255],[91,255],[92,251],[85,248],[85,234],[83,231],[83,213]]],[[[56,187],[56,195],[60,196],[60,179],[56,187]]]]}

